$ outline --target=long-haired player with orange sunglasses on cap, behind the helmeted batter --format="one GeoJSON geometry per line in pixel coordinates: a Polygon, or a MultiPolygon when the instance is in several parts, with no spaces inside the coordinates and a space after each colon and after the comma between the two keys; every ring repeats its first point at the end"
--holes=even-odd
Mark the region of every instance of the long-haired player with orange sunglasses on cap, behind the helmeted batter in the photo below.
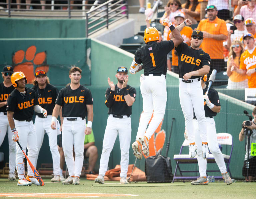
{"type": "Polygon", "coordinates": [[[50,80],[44,70],[38,70],[35,73],[34,86],[32,89],[36,92],[38,103],[40,106],[47,110],[48,115],[45,118],[42,113],[36,113],[35,130],[37,136],[38,152],[36,156],[36,163],[39,155],[40,148],[42,147],[44,134],[47,133],[49,138],[50,150],[52,153],[53,161],[53,178],[51,182],[60,182],[60,153],[57,147],[57,133],[58,130],[51,129],[52,111],[55,106],[55,101],[58,95],[58,89],[50,84],[50,80]]]}

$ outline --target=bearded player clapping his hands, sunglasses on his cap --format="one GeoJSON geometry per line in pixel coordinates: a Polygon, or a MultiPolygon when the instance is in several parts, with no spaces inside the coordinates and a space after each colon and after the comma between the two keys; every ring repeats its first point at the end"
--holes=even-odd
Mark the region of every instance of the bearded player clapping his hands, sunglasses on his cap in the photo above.
{"type": "Polygon", "coordinates": [[[119,136],[121,148],[120,184],[128,184],[126,177],[132,132],[130,115],[132,114],[132,105],[136,97],[136,89],[127,85],[128,70],[126,67],[118,67],[116,72],[117,84],[115,85],[108,78],[110,87],[106,90],[105,105],[109,108],[109,117],[103,139],[99,176],[95,178],[95,182],[100,184],[104,184],[109,155],[114,147],[117,135],[119,136]]]}

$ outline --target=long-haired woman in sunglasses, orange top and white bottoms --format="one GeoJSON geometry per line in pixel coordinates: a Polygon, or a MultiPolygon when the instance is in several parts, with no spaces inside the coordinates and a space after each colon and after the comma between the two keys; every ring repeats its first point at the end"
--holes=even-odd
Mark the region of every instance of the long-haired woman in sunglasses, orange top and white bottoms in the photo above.
{"type": "MultiPolygon", "coordinates": [[[[228,89],[233,88],[248,88],[248,79],[246,75],[241,75],[233,70],[231,67],[234,66],[235,69],[240,67],[240,57],[244,52],[244,45],[239,40],[234,40],[231,44],[229,51],[229,58],[227,62],[227,75],[228,78],[228,89]]],[[[234,69],[233,68],[233,69],[234,69]]]]}

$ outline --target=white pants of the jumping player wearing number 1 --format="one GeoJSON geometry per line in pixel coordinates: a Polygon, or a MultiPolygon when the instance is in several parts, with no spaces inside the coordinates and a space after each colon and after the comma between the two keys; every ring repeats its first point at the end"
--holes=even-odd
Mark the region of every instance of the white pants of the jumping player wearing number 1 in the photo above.
{"type": "Polygon", "coordinates": [[[165,75],[153,76],[153,74],[149,74],[145,76],[145,79],[141,81],[140,91],[143,99],[143,113],[140,117],[136,138],[146,136],[150,139],[165,114],[167,99],[165,75]],[[148,125],[153,111],[154,116],[148,125]],[[145,133],[146,129],[147,132],[145,133]]]}

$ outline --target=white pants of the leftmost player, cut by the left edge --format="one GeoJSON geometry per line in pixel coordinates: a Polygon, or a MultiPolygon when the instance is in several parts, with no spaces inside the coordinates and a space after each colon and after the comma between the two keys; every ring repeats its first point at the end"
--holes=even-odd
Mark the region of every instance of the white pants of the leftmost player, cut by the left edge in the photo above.
{"type": "Polygon", "coordinates": [[[16,156],[16,144],[12,140],[12,130],[9,126],[7,115],[4,115],[3,112],[0,112],[0,147],[3,144],[4,137],[8,135],[8,142],[9,142],[9,168],[10,173],[14,173],[15,171],[15,156],[16,156]]]}

